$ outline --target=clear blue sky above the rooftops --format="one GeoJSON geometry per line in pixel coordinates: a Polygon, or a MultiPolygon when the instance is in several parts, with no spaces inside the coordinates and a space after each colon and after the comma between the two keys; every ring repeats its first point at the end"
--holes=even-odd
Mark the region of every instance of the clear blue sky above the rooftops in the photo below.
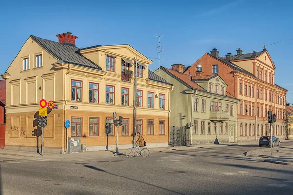
{"type": "Polygon", "coordinates": [[[276,83],[289,90],[293,103],[292,8],[286,0],[9,0],[0,6],[0,73],[31,34],[57,41],[56,34],[71,31],[77,47],[129,44],[154,61],[151,69],[159,66],[155,35],[166,36],[166,67],[191,65],[215,47],[224,56],[238,47],[261,51],[265,44],[277,67],[276,83]]]}

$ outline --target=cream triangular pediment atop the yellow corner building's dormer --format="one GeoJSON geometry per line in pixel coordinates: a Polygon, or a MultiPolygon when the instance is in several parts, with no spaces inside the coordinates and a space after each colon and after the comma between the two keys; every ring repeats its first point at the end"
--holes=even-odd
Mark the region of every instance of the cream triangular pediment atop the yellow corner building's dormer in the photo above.
{"type": "Polygon", "coordinates": [[[110,46],[102,46],[100,50],[104,51],[105,53],[109,53],[112,55],[122,56],[126,59],[135,60],[137,55],[137,60],[139,62],[143,62],[146,65],[151,64],[152,61],[143,54],[139,53],[130,45],[110,45],[110,46]]]}

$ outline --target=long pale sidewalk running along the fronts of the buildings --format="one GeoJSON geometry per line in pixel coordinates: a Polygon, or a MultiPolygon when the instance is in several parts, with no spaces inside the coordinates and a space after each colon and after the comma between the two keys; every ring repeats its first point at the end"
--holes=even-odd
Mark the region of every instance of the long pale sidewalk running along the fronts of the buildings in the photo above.
{"type": "MultiPolygon", "coordinates": [[[[199,144],[199,145],[192,145],[192,146],[174,146],[174,147],[167,147],[167,148],[148,148],[150,152],[166,152],[170,150],[176,151],[186,151],[186,150],[194,150],[194,149],[209,149],[215,147],[227,147],[227,146],[257,146],[258,142],[240,142],[240,143],[227,143],[227,144],[199,144]]],[[[119,150],[119,153],[125,154],[124,150],[119,150]]],[[[114,156],[122,156],[122,155],[115,155],[115,150],[111,151],[90,151],[90,152],[80,152],[80,153],[71,153],[71,154],[50,154],[50,153],[43,153],[41,156],[37,152],[28,152],[28,151],[17,151],[17,150],[5,150],[0,149],[0,157],[7,157],[7,158],[33,158],[33,159],[43,159],[43,160],[56,160],[56,161],[73,161],[73,160],[83,160],[83,159],[94,159],[94,158],[107,158],[107,157],[114,157],[114,156]]]]}

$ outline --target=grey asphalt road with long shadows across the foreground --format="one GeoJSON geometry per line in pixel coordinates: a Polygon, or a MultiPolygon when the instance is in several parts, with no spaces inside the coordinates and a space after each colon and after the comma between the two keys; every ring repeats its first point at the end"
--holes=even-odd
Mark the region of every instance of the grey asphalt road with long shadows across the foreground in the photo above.
{"type": "MultiPolygon", "coordinates": [[[[282,147],[293,145],[282,143],[282,147]]],[[[293,166],[249,159],[251,145],[48,161],[1,158],[3,195],[292,195],[293,166]]]]}

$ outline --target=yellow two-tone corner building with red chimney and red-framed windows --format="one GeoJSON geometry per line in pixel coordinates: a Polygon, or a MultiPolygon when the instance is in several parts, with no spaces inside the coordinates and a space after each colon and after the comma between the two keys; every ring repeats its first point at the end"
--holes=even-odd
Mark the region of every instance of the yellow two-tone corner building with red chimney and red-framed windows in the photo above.
{"type": "Polygon", "coordinates": [[[41,148],[41,129],[37,127],[41,99],[55,102],[55,108],[48,110],[44,128],[44,153],[65,153],[66,140],[72,143],[73,138],[73,145],[84,144],[86,151],[114,149],[117,129],[113,112],[123,117],[119,149],[132,146],[136,131],[142,132],[148,147],[168,146],[172,86],[148,70],[150,59],[129,45],[81,49],[75,46],[77,37],[70,32],[56,36],[59,42],[30,36],[0,75],[6,79],[7,89],[6,149],[41,148]],[[68,133],[66,120],[71,121],[68,133]],[[108,137],[106,123],[112,125],[108,137]]]}

